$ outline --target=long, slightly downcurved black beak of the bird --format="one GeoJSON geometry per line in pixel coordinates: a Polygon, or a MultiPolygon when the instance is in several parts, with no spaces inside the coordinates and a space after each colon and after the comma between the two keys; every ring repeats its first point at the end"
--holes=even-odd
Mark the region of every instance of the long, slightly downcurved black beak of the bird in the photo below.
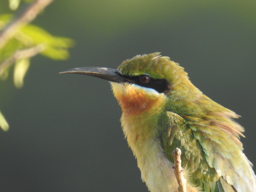
{"type": "Polygon", "coordinates": [[[89,75],[93,77],[98,77],[111,82],[129,82],[127,78],[122,76],[118,70],[110,69],[106,67],[79,67],[68,69],[59,73],[77,73],[83,75],[89,75]]]}

